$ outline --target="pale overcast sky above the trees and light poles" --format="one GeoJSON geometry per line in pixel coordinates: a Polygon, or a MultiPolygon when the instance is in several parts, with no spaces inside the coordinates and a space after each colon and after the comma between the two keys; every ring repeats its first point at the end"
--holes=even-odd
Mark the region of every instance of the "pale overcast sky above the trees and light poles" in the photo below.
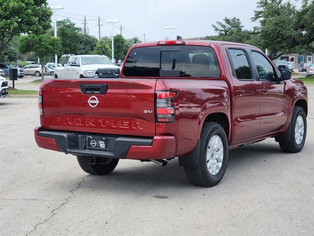
{"type": "MultiPolygon", "coordinates": [[[[287,1],[287,0],[285,0],[287,1]]],[[[297,6],[301,0],[291,2],[297,6]]],[[[120,33],[126,38],[138,36],[144,41],[163,40],[180,35],[183,38],[215,35],[212,24],[225,17],[237,17],[244,29],[252,29],[257,22],[250,20],[257,9],[256,0],[48,0],[49,5],[62,5],[57,10],[57,21],[67,17],[84,26],[86,16],[87,32],[98,38],[98,17],[101,17],[101,36],[109,36],[112,24],[106,20],[119,20],[114,24],[114,34],[120,33]]],[[[55,14],[52,17],[55,22],[55,14]]]]}

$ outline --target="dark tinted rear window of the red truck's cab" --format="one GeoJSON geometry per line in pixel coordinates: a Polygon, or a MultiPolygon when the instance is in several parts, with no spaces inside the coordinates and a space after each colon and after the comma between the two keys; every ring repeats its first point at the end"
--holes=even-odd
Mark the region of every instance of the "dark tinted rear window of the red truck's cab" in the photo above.
{"type": "Polygon", "coordinates": [[[215,52],[206,46],[134,48],[123,69],[125,77],[218,78],[220,74],[215,52]]]}

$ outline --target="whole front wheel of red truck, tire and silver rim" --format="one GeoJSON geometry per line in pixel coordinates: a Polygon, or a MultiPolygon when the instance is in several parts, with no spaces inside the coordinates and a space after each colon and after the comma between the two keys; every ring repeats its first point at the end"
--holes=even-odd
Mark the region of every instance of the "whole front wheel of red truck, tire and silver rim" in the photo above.
{"type": "Polygon", "coordinates": [[[287,143],[279,142],[279,145],[285,152],[299,152],[304,147],[307,132],[306,114],[302,107],[294,107],[290,125],[291,129],[287,131],[290,132],[290,141],[287,143]]]}

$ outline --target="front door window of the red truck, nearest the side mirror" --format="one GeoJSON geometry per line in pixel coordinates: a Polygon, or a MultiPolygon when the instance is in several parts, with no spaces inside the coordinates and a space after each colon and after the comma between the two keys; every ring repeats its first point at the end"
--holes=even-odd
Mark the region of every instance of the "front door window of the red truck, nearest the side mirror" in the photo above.
{"type": "Polygon", "coordinates": [[[271,63],[260,53],[252,52],[252,59],[256,65],[259,80],[277,83],[275,70],[271,63]]]}

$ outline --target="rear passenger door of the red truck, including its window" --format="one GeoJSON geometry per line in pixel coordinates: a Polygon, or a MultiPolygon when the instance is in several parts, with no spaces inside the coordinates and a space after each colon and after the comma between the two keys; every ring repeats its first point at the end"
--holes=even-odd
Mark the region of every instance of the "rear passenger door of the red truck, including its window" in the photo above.
{"type": "Polygon", "coordinates": [[[227,48],[232,68],[234,92],[234,141],[256,136],[260,125],[261,90],[254,80],[249,52],[244,48],[227,48]]]}

